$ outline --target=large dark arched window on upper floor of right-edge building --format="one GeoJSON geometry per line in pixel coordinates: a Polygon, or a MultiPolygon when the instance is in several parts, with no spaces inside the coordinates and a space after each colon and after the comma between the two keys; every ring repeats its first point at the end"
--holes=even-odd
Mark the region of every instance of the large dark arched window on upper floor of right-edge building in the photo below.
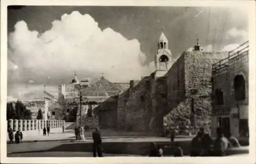
{"type": "Polygon", "coordinates": [[[242,75],[237,75],[234,77],[234,99],[245,99],[245,80],[242,75]]]}

